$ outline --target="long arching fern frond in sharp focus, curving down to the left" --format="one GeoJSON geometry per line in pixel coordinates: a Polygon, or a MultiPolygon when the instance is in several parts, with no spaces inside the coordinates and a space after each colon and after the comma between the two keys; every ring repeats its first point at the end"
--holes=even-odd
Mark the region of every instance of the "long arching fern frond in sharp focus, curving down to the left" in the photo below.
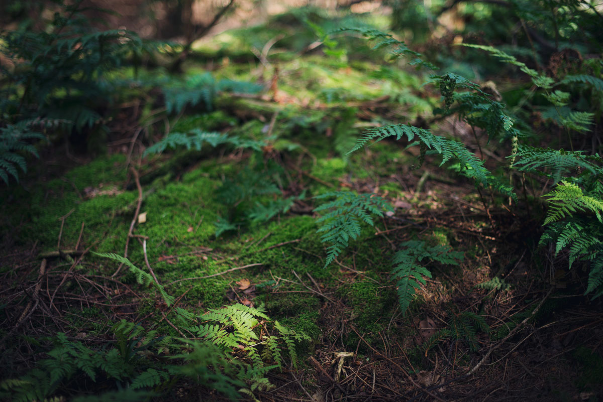
{"type": "Polygon", "coordinates": [[[432,134],[429,130],[411,125],[399,124],[365,131],[362,137],[356,142],[356,146],[353,147],[349,153],[361,149],[370,141],[378,142],[388,137],[396,137],[396,140],[406,137],[408,138],[408,141],[412,141],[415,136],[420,143],[425,144],[428,149],[433,149],[442,155],[440,166],[451,159],[458,159],[464,168],[464,175],[473,178],[484,185],[488,184],[488,175],[490,175],[490,172],[484,167],[484,162],[470,152],[463,143],[459,143],[455,140],[448,140],[447,138],[432,134]]]}

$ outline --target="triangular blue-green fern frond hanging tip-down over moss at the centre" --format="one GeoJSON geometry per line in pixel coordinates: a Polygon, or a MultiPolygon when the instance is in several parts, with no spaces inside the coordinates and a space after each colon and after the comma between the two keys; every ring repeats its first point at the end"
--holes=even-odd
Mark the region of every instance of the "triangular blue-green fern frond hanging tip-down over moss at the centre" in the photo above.
{"type": "Polygon", "coordinates": [[[362,229],[361,221],[373,226],[371,214],[382,217],[384,210],[393,210],[385,200],[374,194],[333,191],[314,198],[320,200],[332,197],[335,200],[314,209],[314,212],[328,211],[317,220],[317,223],[324,222],[317,230],[318,233],[324,233],[321,242],[329,243],[325,267],[346,249],[350,239],[358,238],[362,229]]]}

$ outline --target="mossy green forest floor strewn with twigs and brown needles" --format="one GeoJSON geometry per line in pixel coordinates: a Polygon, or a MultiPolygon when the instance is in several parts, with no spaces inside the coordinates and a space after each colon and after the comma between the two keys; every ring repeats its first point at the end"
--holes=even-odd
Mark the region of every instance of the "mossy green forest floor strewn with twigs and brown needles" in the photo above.
{"type": "MultiPolygon", "coordinates": [[[[263,306],[311,337],[299,348],[298,368],[268,374],[275,387],[256,395],[262,401],[603,396],[603,361],[591,353],[603,339],[601,302],[582,295],[584,274],[562,268],[563,256],[549,261],[546,250],[531,252],[542,211],[522,201],[509,208],[493,203],[500,196],[478,193],[430,155],[412,169],[418,150],[407,144],[382,141],[346,155],[362,129],[411,122],[437,107],[437,94],[420,94],[419,76],[362,58],[342,66],[279,43],[270,58],[270,49],[260,49],[265,64],[257,64],[253,55],[225,50],[237,49],[237,40],[232,32],[213,39],[188,61],[186,75],[260,79],[263,94],[224,94],[209,113],[187,108],[147,125],[140,123],[153,120],[146,100],[123,104],[107,122],[106,154],[49,147],[22,185],[0,196],[2,377],[40,358],[43,342],[31,339],[64,332],[101,347],[121,319],[178,336],[175,306],[203,313],[238,302],[263,306]],[[265,139],[267,146],[142,157],[165,132],[194,128],[265,139]],[[258,190],[226,201],[232,191],[266,185],[279,195],[258,190]],[[376,193],[395,209],[324,267],[312,197],[332,190],[376,193]],[[259,223],[235,221],[216,236],[219,218],[289,198],[287,212],[259,223]],[[402,314],[391,257],[400,243],[418,237],[464,258],[454,267],[433,265],[433,277],[402,314]],[[175,305],[137,284],[127,267],[92,252],[127,254],[153,273],[175,305]],[[467,312],[481,315],[489,329],[463,329],[467,312]],[[434,338],[441,329],[457,333],[434,338]]],[[[440,129],[460,133],[486,161],[504,159],[459,122],[440,122],[440,129]]],[[[163,398],[203,396],[192,383],[178,387],[180,397],[163,398]]]]}

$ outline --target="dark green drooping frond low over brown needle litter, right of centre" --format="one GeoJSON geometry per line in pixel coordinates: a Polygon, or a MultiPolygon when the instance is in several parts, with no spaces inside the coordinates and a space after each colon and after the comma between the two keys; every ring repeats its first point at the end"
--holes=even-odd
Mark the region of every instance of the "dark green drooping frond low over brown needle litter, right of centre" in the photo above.
{"type": "Polygon", "coordinates": [[[425,285],[423,276],[431,278],[431,272],[420,265],[424,259],[440,262],[440,264],[458,265],[463,253],[453,252],[446,246],[428,246],[424,241],[406,241],[400,246],[406,247],[394,255],[392,279],[397,280],[398,300],[403,314],[406,313],[415,291],[425,285]]]}

